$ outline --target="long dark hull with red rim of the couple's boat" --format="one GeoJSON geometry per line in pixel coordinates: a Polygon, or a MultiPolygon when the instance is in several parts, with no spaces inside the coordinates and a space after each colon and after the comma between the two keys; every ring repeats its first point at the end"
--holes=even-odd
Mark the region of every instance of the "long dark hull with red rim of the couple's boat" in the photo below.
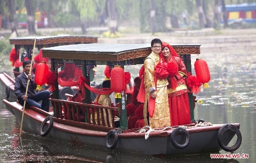
{"type": "MultiPolygon", "coordinates": [[[[10,112],[15,115],[17,122],[20,125],[22,121],[23,106],[16,102],[9,102],[7,100],[3,100],[3,103],[5,103],[10,112]]],[[[40,126],[49,115],[50,114],[48,112],[35,107],[25,108],[22,129],[26,132],[39,135],[40,126]]],[[[218,144],[217,134],[223,125],[224,124],[214,124],[212,126],[194,126],[187,128],[186,130],[190,135],[190,143],[184,149],[177,149],[173,146],[170,138],[173,129],[167,129],[160,132],[151,132],[147,139],[145,139],[145,133],[138,133],[134,131],[118,133],[118,142],[115,148],[130,151],[132,153],[135,152],[148,155],[184,155],[219,152],[222,149],[218,144]]],[[[239,124],[233,125],[240,128],[239,124]]],[[[45,127],[48,127],[48,125],[45,127]]],[[[78,127],[72,125],[72,123],[67,125],[53,122],[53,127],[45,138],[70,144],[104,148],[106,134],[107,132],[90,130],[86,127],[78,127]]],[[[230,142],[233,136],[234,133],[228,134],[225,136],[224,142],[230,142]]],[[[182,139],[183,136],[178,137],[178,139],[179,138],[182,139]]]]}

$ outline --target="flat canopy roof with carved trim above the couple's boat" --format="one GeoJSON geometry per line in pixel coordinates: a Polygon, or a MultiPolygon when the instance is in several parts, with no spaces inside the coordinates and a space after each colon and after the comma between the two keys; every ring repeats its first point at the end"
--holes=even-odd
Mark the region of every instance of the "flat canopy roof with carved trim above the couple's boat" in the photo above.
{"type": "MultiPolygon", "coordinates": [[[[172,46],[178,54],[200,54],[200,44],[172,46]]],[[[146,57],[150,53],[150,44],[91,43],[42,49],[42,55],[48,58],[94,61],[124,61],[146,57]]]]}

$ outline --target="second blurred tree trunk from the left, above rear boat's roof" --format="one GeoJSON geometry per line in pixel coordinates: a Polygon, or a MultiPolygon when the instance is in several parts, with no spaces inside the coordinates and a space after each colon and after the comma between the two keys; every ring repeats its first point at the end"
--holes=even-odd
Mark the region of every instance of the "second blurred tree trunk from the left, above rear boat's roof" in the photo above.
{"type": "MultiPolygon", "coordinates": [[[[33,4],[32,0],[26,0],[26,9],[27,9],[27,22],[28,22],[28,32],[29,34],[33,35],[36,34],[35,31],[35,17],[34,17],[34,9],[33,9],[33,4]]],[[[37,25],[36,25],[37,26],[37,25]]]]}

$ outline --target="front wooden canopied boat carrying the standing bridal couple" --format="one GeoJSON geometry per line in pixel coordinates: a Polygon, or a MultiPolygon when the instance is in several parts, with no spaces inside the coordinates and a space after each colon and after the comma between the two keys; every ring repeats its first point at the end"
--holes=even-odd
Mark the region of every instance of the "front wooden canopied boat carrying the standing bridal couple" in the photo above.
{"type": "MultiPolygon", "coordinates": [[[[191,72],[190,55],[200,54],[200,45],[173,45],[182,57],[187,71],[191,72]]],[[[52,69],[60,67],[66,60],[73,61],[83,69],[84,77],[95,65],[135,65],[151,53],[149,44],[75,44],[63,45],[42,50],[44,57],[51,58],[52,69]]],[[[53,115],[36,107],[26,107],[23,130],[49,139],[75,143],[82,146],[106,147],[148,155],[184,155],[205,152],[237,150],[242,142],[240,124],[211,124],[203,120],[194,120],[194,99],[189,94],[191,124],[169,126],[166,128],[127,129],[126,96],[124,91],[117,99],[115,107],[103,107],[90,103],[90,91],[86,88],[86,103],[58,99],[58,90],[51,95],[53,115]],[[94,109],[91,109],[94,108],[94,109]],[[93,111],[94,110],[94,111],[93,111]],[[118,112],[120,126],[116,128],[114,116],[100,116],[99,112],[118,112]],[[76,112],[84,113],[84,119],[76,112]],[[94,114],[96,112],[97,114],[94,114]],[[99,121],[102,120],[102,123],[99,121]],[[105,121],[106,124],[103,123],[105,121]],[[48,123],[49,122],[49,123],[48,123]],[[112,124],[111,124],[112,123],[112,124]],[[33,125],[32,125],[33,124],[33,125]],[[112,126],[112,127],[111,127],[112,126]],[[233,136],[237,140],[233,145],[233,136]]],[[[71,95],[67,95],[71,96],[71,95]]],[[[22,120],[23,106],[16,102],[3,100],[7,108],[15,115],[17,122],[22,120]]],[[[102,114],[101,114],[102,115],[102,114]]]]}

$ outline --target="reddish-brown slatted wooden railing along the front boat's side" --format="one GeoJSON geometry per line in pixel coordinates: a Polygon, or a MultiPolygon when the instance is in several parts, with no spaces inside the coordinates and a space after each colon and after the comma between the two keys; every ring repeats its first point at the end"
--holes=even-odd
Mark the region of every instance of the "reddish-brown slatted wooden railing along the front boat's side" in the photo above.
{"type": "Polygon", "coordinates": [[[67,100],[49,99],[55,109],[55,118],[81,122],[87,125],[115,128],[114,117],[119,107],[107,107],[67,100]]]}

